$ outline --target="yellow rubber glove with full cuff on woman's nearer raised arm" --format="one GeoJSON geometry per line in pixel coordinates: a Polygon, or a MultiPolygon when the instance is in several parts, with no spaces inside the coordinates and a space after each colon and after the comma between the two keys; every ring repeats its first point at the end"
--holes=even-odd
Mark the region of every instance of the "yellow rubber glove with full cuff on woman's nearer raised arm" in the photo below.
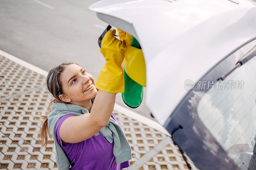
{"type": "Polygon", "coordinates": [[[122,62],[126,50],[125,41],[120,41],[114,37],[116,30],[108,30],[101,41],[100,52],[106,59],[100,76],[95,84],[97,89],[110,93],[124,92],[124,72],[122,62]]]}

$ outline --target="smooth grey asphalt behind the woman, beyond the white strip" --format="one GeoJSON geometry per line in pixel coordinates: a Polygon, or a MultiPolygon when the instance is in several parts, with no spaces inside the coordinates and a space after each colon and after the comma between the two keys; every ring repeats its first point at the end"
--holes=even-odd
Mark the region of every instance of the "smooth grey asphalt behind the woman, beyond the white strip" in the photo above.
{"type": "MultiPolygon", "coordinates": [[[[66,62],[77,62],[98,79],[105,59],[98,37],[108,26],[89,11],[95,0],[2,0],[0,2],[0,49],[49,71],[66,62]]],[[[116,103],[150,119],[142,103],[136,109],[126,106],[119,93],[116,103]]]]}

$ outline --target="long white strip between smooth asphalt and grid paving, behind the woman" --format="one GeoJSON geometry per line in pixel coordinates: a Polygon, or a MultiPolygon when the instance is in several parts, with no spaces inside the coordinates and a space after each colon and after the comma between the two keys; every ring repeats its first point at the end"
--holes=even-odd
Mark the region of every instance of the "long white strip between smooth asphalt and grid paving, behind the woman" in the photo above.
{"type": "MultiPolygon", "coordinates": [[[[9,60],[11,60],[11,61],[13,61],[13,62],[15,62],[15,63],[17,63],[17,64],[19,64],[20,66],[23,66],[23,67],[33,71],[33,72],[41,74],[45,77],[47,77],[47,75],[48,75],[48,72],[43,70],[42,68],[34,66],[33,64],[30,64],[30,63],[28,63],[28,62],[26,62],[26,61],[24,61],[20,58],[17,58],[15,56],[3,51],[3,50],[0,50],[0,55],[9,59],[9,60]]],[[[139,121],[139,122],[147,125],[148,127],[154,128],[154,129],[158,130],[159,132],[164,133],[165,135],[171,136],[168,133],[168,131],[164,127],[162,127],[159,123],[157,123],[156,121],[151,120],[151,119],[149,119],[149,118],[147,118],[147,117],[145,117],[145,116],[143,116],[143,115],[141,115],[137,112],[131,111],[131,110],[119,105],[119,104],[115,103],[114,111],[120,112],[120,113],[124,114],[127,117],[130,117],[130,118],[132,118],[136,121],[139,121]]]]}

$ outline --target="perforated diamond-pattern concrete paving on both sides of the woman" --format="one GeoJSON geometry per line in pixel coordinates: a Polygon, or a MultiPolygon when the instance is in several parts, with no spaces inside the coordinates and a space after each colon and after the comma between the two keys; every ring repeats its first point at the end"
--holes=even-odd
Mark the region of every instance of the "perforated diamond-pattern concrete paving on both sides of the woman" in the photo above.
{"type": "MultiPolygon", "coordinates": [[[[45,82],[43,75],[0,56],[0,169],[57,169],[53,141],[42,147],[38,138],[38,118],[45,115],[52,98],[45,82]]],[[[114,114],[131,145],[131,165],[167,137],[120,112],[114,114]]],[[[188,167],[178,148],[169,143],[140,169],[188,167]]]]}

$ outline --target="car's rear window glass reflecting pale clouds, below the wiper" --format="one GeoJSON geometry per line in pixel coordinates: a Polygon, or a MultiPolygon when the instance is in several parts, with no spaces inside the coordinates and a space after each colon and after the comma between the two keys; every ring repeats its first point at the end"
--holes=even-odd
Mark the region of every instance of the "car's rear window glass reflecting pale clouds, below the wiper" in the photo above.
{"type": "Polygon", "coordinates": [[[229,157],[241,169],[247,169],[256,134],[256,58],[229,74],[226,81],[244,81],[244,86],[242,89],[210,89],[196,110],[229,157]]]}

